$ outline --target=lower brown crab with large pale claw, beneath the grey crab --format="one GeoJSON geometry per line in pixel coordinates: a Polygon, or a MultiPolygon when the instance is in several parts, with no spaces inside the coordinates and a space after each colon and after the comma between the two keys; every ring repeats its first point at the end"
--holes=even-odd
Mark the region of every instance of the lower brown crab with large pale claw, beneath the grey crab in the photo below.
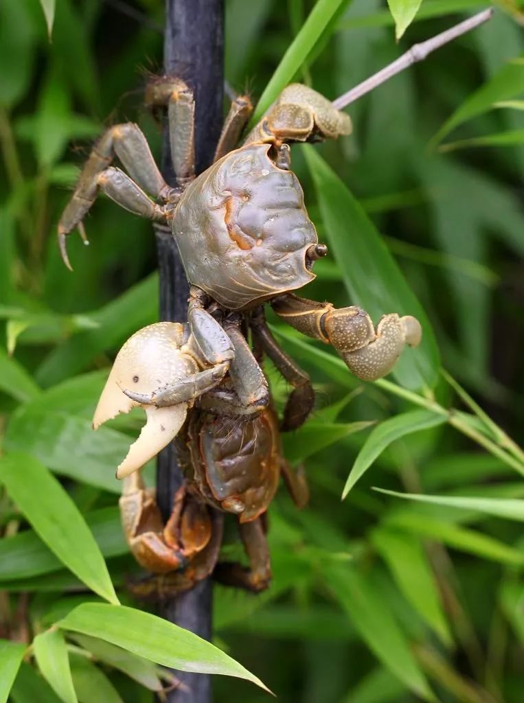
{"type": "Polygon", "coordinates": [[[169,395],[160,399],[158,406],[142,404],[147,423],[117,469],[117,476],[123,479],[120,512],[129,548],[142,567],[156,574],[130,584],[141,598],[168,598],[191,588],[214,569],[215,578],[223,583],[262,591],[271,579],[265,513],[281,474],[295,503],[302,507],[307,502],[303,469],[294,471],[282,456],[267,382],[250,373],[258,366],[252,365],[253,354],[241,334],[240,322],[240,316],[230,316],[223,327],[215,321],[215,334],[231,339],[237,373],[248,379],[244,391],[251,393],[249,403],[245,396],[238,396],[231,379],[205,390],[215,380],[217,368],[224,379],[232,361],[231,348],[224,344],[222,366],[212,366],[200,352],[190,325],[170,322],[150,325],[127,340],[98,401],[94,427],[141,405],[122,393],[122,387],[131,383],[147,389],[162,378],[169,387],[183,378],[189,379],[193,392],[191,398],[174,406],[164,405],[171,402],[169,395]],[[139,467],[182,427],[178,444],[186,482],[175,494],[172,513],[164,525],[154,491],[146,489],[139,467]],[[249,567],[236,562],[217,565],[222,518],[210,507],[238,518],[249,567]]]}

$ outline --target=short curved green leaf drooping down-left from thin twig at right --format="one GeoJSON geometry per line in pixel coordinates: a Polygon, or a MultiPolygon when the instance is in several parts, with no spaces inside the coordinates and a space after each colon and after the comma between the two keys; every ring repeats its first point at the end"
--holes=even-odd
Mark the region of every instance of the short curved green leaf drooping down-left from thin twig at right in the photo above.
{"type": "Polygon", "coordinates": [[[411,432],[428,430],[446,422],[446,415],[437,415],[428,410],[414,410],[394,418],[384,420],[369,433],[364,446],[354,460],[350,475],[347,477],[342,497],[345,498],[354,484],[369,469],[371,464],[388,447],[392,441],[404,437],[411,432]]]}

